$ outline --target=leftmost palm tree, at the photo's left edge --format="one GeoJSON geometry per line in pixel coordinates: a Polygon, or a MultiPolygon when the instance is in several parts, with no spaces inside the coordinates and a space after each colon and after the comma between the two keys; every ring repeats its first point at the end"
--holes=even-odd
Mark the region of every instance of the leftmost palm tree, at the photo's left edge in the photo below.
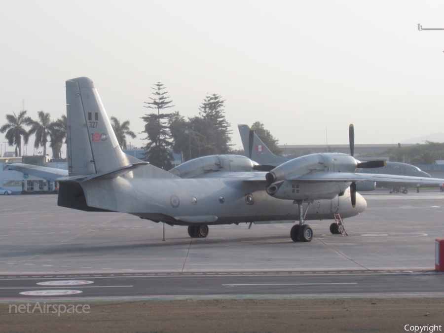
{"type": "Polygon", "coordinates": [[[29,141],[29,133],[23,126],[29,125],[32,120],[26,116],[26,112],[26,110],[20,111],[18,116],[15,112],[12,112],[14,115],[6,114],[8,122],[0,128],[0,133],[6,132],[5,138],[8,141],[8,145],[15,145],[15,155],[18,157],[22,156],[22,136],[25,145],[29,141]]]}

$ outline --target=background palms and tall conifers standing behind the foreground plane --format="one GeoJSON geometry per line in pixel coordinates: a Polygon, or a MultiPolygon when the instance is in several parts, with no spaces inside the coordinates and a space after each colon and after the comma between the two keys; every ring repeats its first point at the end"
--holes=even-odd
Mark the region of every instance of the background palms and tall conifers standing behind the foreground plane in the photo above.
{"type": "MultiPolygon", "coordinates": [[[[144,107],[154,112],[141,117],[145,122],[144,159],[150,164],[169,170],[173,167],[172,152],[180,153],[183,161],[192,158],[211,155],[240,153],[242,150],[233,150],[229,130],[230,123],[225,118],[224,102],[222,96],[214,93],[204,98],[198,107],[198,115],[185,118],[180,111],[168,112],[173,108],[166,87],[157,82],[151,88],[152,97],[144,102],[144,107]]],[[[50,114],[38,111],[38,120],[27,116],[27,111],[21,111],[18,115],[7,114],[7,123],[0,128],[0,133],[6,133],[5,138],[9,146],[15,146],[16,156],[21,156],[22,138],[28,144],[31,135],[35,134],[35,148],[42,147],[46,155],[46,144],[52,148],[53,158],[61,158],[61,148],[67,138],[67,119],[62,115],[55,121],[51,121],[50,114]],[[26,129],[25,127],[29,127],[26,129]]],[[[127,148],[126,137],[136,138],[136,134],[130,129],[130,121],[120,122],[111,116],[111,126],[121,148],[127,148]]],[[[277,147],[278,140],[264,128],[263,123],[256,121],[253,126],[255,132],[264,144],[275,154],[282,154],[282,149],[277,147]]]]}

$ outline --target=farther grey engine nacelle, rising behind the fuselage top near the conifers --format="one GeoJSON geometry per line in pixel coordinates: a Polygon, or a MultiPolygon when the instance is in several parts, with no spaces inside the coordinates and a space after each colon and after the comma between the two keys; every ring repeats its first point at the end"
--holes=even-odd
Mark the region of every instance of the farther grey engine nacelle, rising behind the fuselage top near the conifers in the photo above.
{"type": "Polygon", "coordinates": [[[169,172],[181,178],[192,178],[209,172],[250,172],[255,164],[241,155],[209,155],[186,161],[169,172]]]}

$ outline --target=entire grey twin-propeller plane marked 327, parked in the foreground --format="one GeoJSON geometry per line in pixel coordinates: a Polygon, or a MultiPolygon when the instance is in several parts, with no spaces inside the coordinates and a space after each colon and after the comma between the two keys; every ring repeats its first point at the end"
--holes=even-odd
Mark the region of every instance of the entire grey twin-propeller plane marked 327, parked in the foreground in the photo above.
{"type": "MultiPolygon", "coordinates": [[[[298,157],[269,172],[258,171],[263,168],[246,156],[212,155],[167,172],[122,152],[91,79],[66,81],[66,99],[69,175],[22,163],[7,167],[57,180],[59,206],[185,225],[191,237],[206,237],[215,224],[297,220],[291,238],[309,242],[313,230],[305,221],[333,219],[333,213],[348,218],[366,209],[356,182],[441,182],[357,174],[383,162],[361,163],[340,153],[298,157]]],[[[350,147],[353,151],[352,141],[350,147]]]]}

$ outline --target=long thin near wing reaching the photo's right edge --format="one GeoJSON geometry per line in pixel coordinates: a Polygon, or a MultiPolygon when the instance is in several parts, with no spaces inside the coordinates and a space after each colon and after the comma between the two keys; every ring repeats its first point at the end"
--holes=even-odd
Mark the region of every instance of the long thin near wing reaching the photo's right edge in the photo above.
{"type": "Polygon", "coordinates": [[[440,184],[444,182],[444,179],[440,178],[362,174],[352,172],[312,172],[287,180],[303,182],[393,182],[411,184],[440,184]]]}

